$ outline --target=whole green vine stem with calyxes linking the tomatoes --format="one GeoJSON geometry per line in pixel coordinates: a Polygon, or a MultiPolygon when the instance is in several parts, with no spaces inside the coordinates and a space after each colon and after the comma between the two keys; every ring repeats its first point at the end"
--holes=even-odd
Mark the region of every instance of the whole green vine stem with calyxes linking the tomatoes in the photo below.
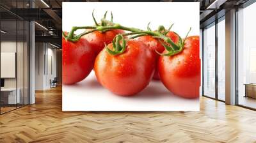
{"type": "MultiPolygon", "coordinates": [[[[126,41],[125,41],[124,36],[129,36],[128,39],[138,38],[140,36],[145,36],[145,35],[150,35],[150,36],[153,36],[154,38],[157,38],[161,42],[161,44],[164,46],[164,48],[168,51],[166,54],[161,54],[156,51],[157,54],[160,54],[161,56],[173,56],[173,55],[181,52],[184,48],[184,41],[186,40],[186,38],[184,40],[182,40],[182,38],[180,38],[179,34],[175,33],[179,36],[179,41],[178,41],[178,43],[174,43],[168,36],[166,36],[166,34],[172,28],[173,24],[170,27],[168,27],[168,29],[165,29],[164,26],[159,26],[157,31],[152,31],[149,27],[149,25],[150,25],[150,22],[149,22],[147,25],[147,31],[143,31],[138,28],[125,27],[120,24],[113,23],[112,12],[111,12],[111,20],[110,21],[106,20],[106,15],[107,15],[108,11],[106,11],[104,13],[103,18],[100,20],[100,23],[98,23],[97,20],[95,19],[93,13],[94,13],[94,10],[92,12],[92,18],[95,23],[95,26],[72,27],[70,33],[68,33],[68,34],[63,33],[63,37],[65,38],[65,40],[75,42],[75,41],[78,41],[83,35],[93,33],[94,31],[100,31],[100,32],[104,33],[106,31],[109,31],[112,29],[122,29],[124,31],[130,31],[131,33],[116,35],[112,42],[113,50],[110,50],[107,45],[105,46],[108,53],[111,55],[119,55],[125,51],[126,41]],[[77,29],[90,29],[90,31],[85,31],[84,33],[76,35],[76,34],[74,34],[74,32],[77,29]],[[120,42],[122,43],[122,45],[120,44],[120,42]]],[[[191,28],[189,29],[189,31],[190,30],[191,30],[191,28]]],[[[187,36],[188,36],[188,34],[187,34],[187,36]]]]}

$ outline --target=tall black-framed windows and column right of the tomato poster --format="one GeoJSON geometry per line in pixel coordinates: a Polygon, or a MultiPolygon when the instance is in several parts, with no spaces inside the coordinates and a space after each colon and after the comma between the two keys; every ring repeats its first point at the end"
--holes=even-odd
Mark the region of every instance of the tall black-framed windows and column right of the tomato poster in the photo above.
{"type": "Polygon", "coordinates": [[[230,11],[219,10],[215,19],[200,25],[203,96],[256,109],[256,57],[252,36],[255,13],[256,3],[247,1],[230,11]],[[231,69],[226,71],[226,68],[231,69]],[[227,81],[227,77],[232,79],[227,81]],[[231,91],[225,93],[230,87],[231,91]]]}

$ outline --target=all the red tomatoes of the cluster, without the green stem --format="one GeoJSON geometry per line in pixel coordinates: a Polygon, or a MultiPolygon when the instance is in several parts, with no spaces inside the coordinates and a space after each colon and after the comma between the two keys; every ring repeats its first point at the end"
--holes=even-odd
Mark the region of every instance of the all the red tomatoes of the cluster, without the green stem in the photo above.
{"type": "MultiPolygon", "coordinates": [[[[178,96],[199,96],[199,36],[182,40],[182,51],[173,56],[157,54],[164,55],[168,50],[162,41],[150,35],[132,40],[126,38],[125,51],[118,55],[110,54],[109,50],[115,49],[112,41],[118,34],[124,33],[122,29],[111,29],[93,31],[78,41],[62,38],[63,84],[75,84],[94,69],[99,83],[120,96],[139,93],[152,78],[161,80],[169,91],[178,96]],[[104,48],[106,45],[108,49],[104,48]]],[[[173,43],[179,43],[180,36],[177,33],[168,31],[166,36],[173,43]]]]}

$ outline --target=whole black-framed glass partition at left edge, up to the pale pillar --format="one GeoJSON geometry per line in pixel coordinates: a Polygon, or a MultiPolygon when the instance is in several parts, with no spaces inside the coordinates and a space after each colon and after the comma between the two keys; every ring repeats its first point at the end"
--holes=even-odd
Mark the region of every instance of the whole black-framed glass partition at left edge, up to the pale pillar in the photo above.
{"type": "MultiPolygon", "coordinates": [[[[9,2],[0,4],[8,3],[14,10],[28,7],[28,1],[9,2]]],[[[3,114],[29,104],[29,22],[0,8],[0,30],[0,114],[3,114]]]]}

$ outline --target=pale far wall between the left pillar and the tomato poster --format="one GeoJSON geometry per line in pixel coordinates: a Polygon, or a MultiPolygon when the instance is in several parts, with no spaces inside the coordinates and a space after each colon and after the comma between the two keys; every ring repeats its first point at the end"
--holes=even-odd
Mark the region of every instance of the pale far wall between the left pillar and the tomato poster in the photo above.
{"type": "Polygon", "coordinates": [[[50,80],[56,77],[56,49],[53,48],[49,43],[36,43],[36,90],[49,89],[51,87],[50,80]]]}

